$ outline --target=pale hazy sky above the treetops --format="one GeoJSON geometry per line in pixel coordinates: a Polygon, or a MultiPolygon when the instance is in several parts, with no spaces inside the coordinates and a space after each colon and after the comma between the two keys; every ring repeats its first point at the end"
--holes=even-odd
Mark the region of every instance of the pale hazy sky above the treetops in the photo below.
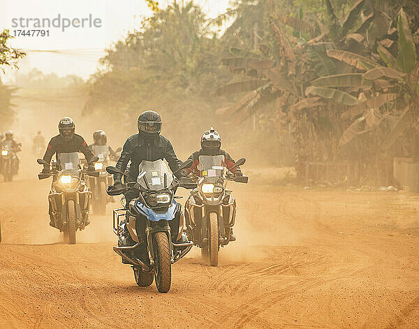
{"type": "MultiPolygon", "coordinates": [[[[32,68],[39,68],[44,73],[77,74],[84,79],[96,71],[98,59],[102,57],[106,47],[126,36],[128,31],[138,28],[140,17],[151,15],[145,0],[1,0],[2,4],[4,1],[6,1],[6,10],[0,12],[0,29],[10,29],[12,35],[15,30],[26,27],[26,20],[23,21],[24,27],[20,27],[20,17],[53,20],[60,15],[61,22],[63,18],[78,19],[75,24],[79,25],[81,20],[89,18],[90,14],[92,21],[100,19],[101,24],[97,25],[101,27],[87,27],[89,22],[84,20],[84,27],[68,27],[65,31],[61,31],[63,24],[60,23],[61,27],[49,28],[49,36],[19,36],[11,42],[14,47],[28,50],[27,57],[20,64],[21,71],[28,72],[32,68]],[[17,19],[17,27],[13,27],[13,19],[17,19]],[[66,51],[54,54],[33,52],[33,50],[66,51]]],[[[168,2],[171,1],[159,1],[161,6],[165,6],[168,2]]],[[[200,4],[210,17],[216,17],[228,7],[228,0],[194,2],[200,4]]],[[[56,24],[57,22],[58,20],[56,24]]],[[[35,20],[29,22],[31,29],[48,29],[34,27],[34,23],[35,20]]],[[[5,80],[10,80],[9,74],[5,80]]]]}

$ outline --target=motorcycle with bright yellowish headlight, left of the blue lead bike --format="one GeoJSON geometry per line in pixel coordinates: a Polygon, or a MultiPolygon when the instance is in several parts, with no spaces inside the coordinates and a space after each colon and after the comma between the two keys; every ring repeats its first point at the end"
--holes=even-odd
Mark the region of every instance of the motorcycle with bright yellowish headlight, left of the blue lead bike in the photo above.
{"type": "MultiPolygon", "coordinates": [[[[98,161],[94,156],[89,164],[98,161]]],[[[38,159],[41,165],[48,163],[38,159]]],[[[97,177],[99,173],[89,172],[80,167],[78,152],[59,153],[57,161],[52,161],[50,173],[38,174],[39,180],[52,178],[52,186],[48,200],[50,214],[54,221],[54,227],[64,232],[64,240],[68,244],[75,244],[75,233],[82,231],[89,216],[89,199],[91,191],[87,187],[84,175],[97,177]]]]}

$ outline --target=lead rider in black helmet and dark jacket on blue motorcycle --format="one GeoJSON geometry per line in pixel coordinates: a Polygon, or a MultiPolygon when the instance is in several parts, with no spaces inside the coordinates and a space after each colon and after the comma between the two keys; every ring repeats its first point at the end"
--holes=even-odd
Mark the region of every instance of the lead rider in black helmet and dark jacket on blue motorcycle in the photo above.
{"type": "MultiPolygon", "coordinates": [[[[161,117],[159,113],[152,110],[142,112],[138,117],[138,133],[129,137],[122,149],[121,157],[117,161],[116,167],[125,172],[128,161],[131,160],[131,166],[128,170],[128,182],[134,182],[138,176],[138,166],[141,161],[156,161],[159,159],[166,159],[168,161],[170,170],[175,173],[177,178],[184,177],[183,170],[179,170],[182,162],[177,159],[175,151],[173,150],[170,141],[160,134],[161,132],[161,117]]],[[[122,187],[122,175],[114,175],[115,184],[113,189],[119,189],[122,187]]],[[[126,207],[133,198],[138,198],[138,191],[130,190],[125,193],[126,207]]],[[[175,214],[175,220],[170,221],[170,230],[177,232],[179,229],[179,219],[182,215],[182,209],[180,204],[177,204],[177,211],[175,214]]],[[[119,246],[132,245],[130,235],[126,231],[124,225],[126,221],[122,221],[120,224],[124,228],[124,231],[119,235],[118,244],[119,246]]],[[[176,236],[176,235],[174,235],[176,236]]],[[[184,236],[182,236],[185,238],[184,236]]]]}

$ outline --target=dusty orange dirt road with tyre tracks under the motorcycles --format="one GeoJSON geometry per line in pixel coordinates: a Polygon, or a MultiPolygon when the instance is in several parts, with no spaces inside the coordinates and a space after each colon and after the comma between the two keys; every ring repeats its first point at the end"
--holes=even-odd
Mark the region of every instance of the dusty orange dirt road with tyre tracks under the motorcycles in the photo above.
{"type": "Polygon", "coordinates": [[[236,184],[237,242],[160,294],[112,251],[110,215],[63,244],[49,184],[0,183],[0,328],[419,328],[418,196],[236,184]]]}

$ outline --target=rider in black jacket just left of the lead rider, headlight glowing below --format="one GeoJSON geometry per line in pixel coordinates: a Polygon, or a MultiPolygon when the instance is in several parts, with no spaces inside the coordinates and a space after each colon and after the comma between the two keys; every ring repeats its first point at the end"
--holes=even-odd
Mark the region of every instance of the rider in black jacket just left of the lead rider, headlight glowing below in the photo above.
{"type": "MultiPolygon", "coordinates": [[[[58,124],[59,135],[51,138],[48,143],[47,150],[43,159],[47,164],[44,164],[42,172],[44,174],[50,173],[50,161],[54,154],[59,153],[72,153],[72,152],[82,152],[86,157],[87,162],[93,158],[93,153],[87,146],[87,143],[84,141],[82,136],[75,133],[75,124],[71,117],[64,117],[59,120],[58,124]]],[[[94,171],[94,166],[89,165],[89,171],[94,171]]],[[[52,219],[51,214],[51,205],[50,205],[50,226],[54,226],[54,220],[52,219]]],[[[86,219],[85,225],[89,225],[89,218],[86,219]]]]}

